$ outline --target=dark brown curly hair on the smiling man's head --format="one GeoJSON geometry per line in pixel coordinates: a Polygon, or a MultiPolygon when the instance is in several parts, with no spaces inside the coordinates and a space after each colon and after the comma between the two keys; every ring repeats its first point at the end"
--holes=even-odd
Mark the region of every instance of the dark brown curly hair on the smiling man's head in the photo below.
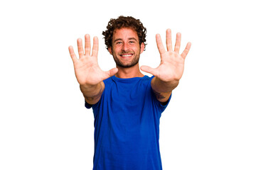
{"type": "Polygon", "coordinates": [[[107,30],[102,32],[102,35],[105,36],[105,45],[107,49],[112,47],[114,30],[121,28],[132,28],[135,30],[139,37],[139,45],[141,45],[143,42],[145,45],[144,50],[146,49],[146,28],[144,28],[139,19],[135,19],[132,16],[119,16],[117,19],[110,19],[109,23],[107,24],[107,30]]]}

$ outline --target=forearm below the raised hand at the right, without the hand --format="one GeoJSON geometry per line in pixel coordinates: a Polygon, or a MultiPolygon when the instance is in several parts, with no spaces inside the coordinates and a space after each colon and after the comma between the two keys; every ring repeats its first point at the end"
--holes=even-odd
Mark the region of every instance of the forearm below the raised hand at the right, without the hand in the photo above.
{"type": "Polygon", "coordinates": [[[151,80],[151,87],[156,95],[156,98],[161,103],[168,101],[171,96],[171,92],[178,86],[178,80],[174,81],[161,81],[154,77],[151,80]]]}

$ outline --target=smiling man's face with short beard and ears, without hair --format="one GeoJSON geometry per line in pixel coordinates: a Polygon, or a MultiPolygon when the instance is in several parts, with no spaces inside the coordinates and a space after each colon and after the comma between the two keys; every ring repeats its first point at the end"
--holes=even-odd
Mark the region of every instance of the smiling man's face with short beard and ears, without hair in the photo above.
{"type": "Polygon", "coordinates": [[[119,67],[133,67],[139,62],[139,55],[144,51],[144,43],[139,45],[137,32],[131,28],[114,30],[112,47],[108,48],[119,67]]]}

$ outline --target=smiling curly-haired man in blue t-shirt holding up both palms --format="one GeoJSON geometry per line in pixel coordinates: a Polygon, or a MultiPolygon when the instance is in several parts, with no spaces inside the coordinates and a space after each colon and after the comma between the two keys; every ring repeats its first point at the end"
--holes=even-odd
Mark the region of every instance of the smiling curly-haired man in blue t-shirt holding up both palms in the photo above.
{"type": "Polygon", "coordinates": [[[167,51],[156,35],[161,64],[155,69],[140,67],[153,74],[147,77],[139,69],[139,56],[146,45],[146,28],[139,20],[124,16],[111,19],[102,34],[117,65],[107,72],[97,63],[97,37],[93,38],[92,55],[90,35],[85,35],[85,52],[78,39],[79,59],[69,47],[85,106],[92,107],[95,116],[93,169],[162,169],[159,119],[181,79],[191,43],[180,55],[181,33],[176,35],[173,50],[171,30],[166,30],[167,51]]]}

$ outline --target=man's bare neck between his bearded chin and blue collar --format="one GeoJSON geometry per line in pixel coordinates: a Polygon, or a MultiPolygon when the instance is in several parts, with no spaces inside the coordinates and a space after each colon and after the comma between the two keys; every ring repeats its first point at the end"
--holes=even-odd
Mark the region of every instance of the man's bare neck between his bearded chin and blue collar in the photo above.
{"type": "Polygon", "coordinates": [[[119,67],[117,66],[118,72],[115,74],[115,77],[121,78],[121,79],[129,79],[134,77],[144,77],[144,74],[140,72],[139,70],[139,63],[134,65],[133,67],[119,67]]]}

